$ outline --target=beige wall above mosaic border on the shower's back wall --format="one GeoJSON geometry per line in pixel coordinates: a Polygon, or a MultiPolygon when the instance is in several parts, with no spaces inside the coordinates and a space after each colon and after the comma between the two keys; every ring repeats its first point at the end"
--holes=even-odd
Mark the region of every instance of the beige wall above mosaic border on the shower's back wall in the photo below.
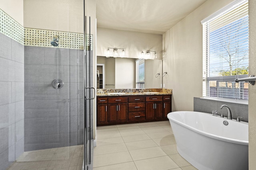
{"type": "Polygon", "coordinates": [[[23,1],[24,27],[76,33],[84,32],[83,0],[23,1]]]}

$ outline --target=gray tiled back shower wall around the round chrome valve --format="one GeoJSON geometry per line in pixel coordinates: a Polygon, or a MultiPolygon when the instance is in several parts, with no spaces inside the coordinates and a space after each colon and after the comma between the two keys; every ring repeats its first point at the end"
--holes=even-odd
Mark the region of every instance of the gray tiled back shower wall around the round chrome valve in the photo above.
{"type": "Polygon", "coordinates": [[[24,63],[25,151],[83,144],[83,50],[25,46],[24,63]]]}

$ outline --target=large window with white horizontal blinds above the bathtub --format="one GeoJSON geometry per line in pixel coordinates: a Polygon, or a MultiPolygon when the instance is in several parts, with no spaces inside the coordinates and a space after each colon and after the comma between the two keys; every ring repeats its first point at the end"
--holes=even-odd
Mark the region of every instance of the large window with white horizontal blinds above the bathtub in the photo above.
{"type": "Polygon", "coordinates": [[[248,0],[233,2],[202,21],[203,96],[248,100],[248,0]]]}

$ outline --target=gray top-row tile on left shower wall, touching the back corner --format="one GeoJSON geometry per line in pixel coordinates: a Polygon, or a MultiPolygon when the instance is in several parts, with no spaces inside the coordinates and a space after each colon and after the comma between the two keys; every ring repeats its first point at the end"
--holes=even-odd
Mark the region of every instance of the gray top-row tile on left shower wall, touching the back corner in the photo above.
{"type": "Polygon", "coordinates": [[[12,61],[24,64],[24,45],[12,39],[12,61]]]}

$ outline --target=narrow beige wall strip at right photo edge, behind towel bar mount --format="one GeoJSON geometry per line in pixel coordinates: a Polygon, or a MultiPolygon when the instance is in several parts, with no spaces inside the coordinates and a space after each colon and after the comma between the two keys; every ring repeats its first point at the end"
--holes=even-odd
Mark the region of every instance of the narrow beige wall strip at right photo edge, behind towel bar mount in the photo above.
{"type": "MultiPolygon", "coordinates": [[[[249,0],[249,75],[256,75],[256,1],[249,0]]],[[[256,85],[249,86],[249,169],[256,167],[256,85]]]]}

